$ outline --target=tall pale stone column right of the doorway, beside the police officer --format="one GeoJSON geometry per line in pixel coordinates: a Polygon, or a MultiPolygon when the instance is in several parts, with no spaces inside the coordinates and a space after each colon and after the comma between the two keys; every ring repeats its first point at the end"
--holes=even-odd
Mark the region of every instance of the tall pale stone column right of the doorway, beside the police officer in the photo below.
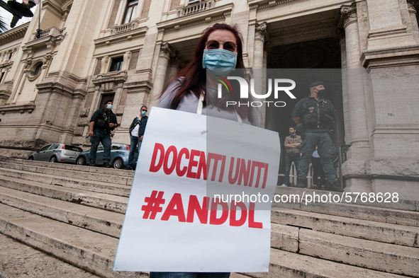
{"type": "MultiPolygon", "coordinates": [[[[348,161],[342,166],[343,175],[347,178],[345,191],[347,192],[371,192],[371,181],[367,179],[357,178],[365,175],[365,161],[369,158],[369,137],[367,127],[367,110],[364,93],[364,74],[360,57],[361,47],[359,42],[359,30],[357,21],[357,6],[343,5],[341,7],[341,23],[345,28],[345,54],[346,63],[342,64],[347,67],[343,73],[346,73],[342,81],[347,83],[343,89],[346,94],[343,100],[346,102],[345,124],[350,124],[350,138],[347,142],[351,145],[347,152],[348,161]]],[[[342,47],[342,46],[341,46],[342,47]]],[[[343,48],[343,47],[342,47],[343,48]]]]}

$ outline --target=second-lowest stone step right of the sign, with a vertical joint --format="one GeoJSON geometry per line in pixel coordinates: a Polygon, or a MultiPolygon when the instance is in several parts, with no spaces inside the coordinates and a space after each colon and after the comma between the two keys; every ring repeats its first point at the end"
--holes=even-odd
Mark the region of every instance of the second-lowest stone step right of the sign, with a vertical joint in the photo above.
{"type": "Polygon", "coordinates": [[[272,248],[347,265],[419,277],[419,250],[306,228],[272,224],[272,248]]]}

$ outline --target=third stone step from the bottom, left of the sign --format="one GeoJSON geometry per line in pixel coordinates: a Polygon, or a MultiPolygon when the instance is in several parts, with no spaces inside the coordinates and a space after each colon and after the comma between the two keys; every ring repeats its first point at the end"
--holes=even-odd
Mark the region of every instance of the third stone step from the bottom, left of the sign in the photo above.
{"type": "Polygon", "coordinates": [[[46,185],[45,183],[19,180],[18,178],[0,176],[0,186],[122,214],[125,214],[125,209],[128,204],[127,197],[79,190],[59,185],[46,185]]]}

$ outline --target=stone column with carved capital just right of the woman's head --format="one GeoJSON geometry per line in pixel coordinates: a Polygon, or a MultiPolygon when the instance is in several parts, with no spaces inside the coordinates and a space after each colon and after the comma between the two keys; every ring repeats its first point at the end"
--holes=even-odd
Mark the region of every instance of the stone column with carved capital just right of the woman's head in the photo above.
{"type": "MultiPolygon", "coordinates": [[[[253,79],[255,80],[255,93],[259,95],[263,95],[266,93],[264,90],[264,83],[266,82],[266,74],[264,78],[264,71],[266,71],[266,59],[264,57],[267,55],[267,52],[264,49],[265,42],[269,40],[267,35],[267,23],[260,23],[256,24],[255,26],[255,46],[253,49],[253,79]]],[[[264,98],[255,99],[256,101],[263,101],[266,100],[264,98]]],[[[265,119],[266,119],[266,105],[262,105],[259,108],[260,115],[262,115],[260,119],[260,127],[265,126],[265,119]]]]}

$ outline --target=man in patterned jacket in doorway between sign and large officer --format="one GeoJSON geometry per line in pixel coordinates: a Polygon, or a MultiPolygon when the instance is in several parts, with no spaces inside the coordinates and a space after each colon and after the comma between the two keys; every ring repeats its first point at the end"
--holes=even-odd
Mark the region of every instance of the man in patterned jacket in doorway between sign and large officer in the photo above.
{"type": "Polygon", "coordinates": [[[291,164],[294,161],[296,169],[298,170],[298,165],[300,164],[301,156],[298,147],[301,145],[301,137],[296,134],[295,127],[289,127],[289,136],[285,137],[284,146],[286,148],[286,158],[285,158],[285,175],[284,175],[284,184],[282,187],[289,186],[289,172],[291,171],[291,164]]]}

